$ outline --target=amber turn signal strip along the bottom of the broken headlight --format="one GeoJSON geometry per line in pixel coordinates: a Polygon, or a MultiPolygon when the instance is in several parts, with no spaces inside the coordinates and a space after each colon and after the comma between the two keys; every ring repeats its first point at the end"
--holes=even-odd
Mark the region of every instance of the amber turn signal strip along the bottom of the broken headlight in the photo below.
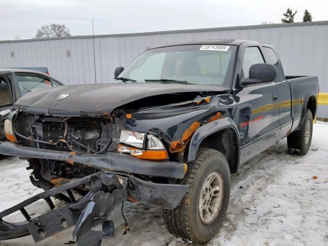
{"type": "Polygon", "coordinates": [[[140,159],[148,159],[148,160],[169,159],[169,154],[166,150],[140,150],[137,148],[119,144],[117,151],[121,153],[128,153],[140,159]]]}

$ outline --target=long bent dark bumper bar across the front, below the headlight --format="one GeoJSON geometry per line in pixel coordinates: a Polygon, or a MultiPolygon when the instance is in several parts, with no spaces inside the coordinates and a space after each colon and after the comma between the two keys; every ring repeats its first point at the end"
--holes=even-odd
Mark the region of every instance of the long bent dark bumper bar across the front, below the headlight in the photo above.
{"type": "Polygon", "coordinates": [[[174,161],[152,161],[110,152],[108,154],[79,154],[25,147],[13,142],[0,144],[0,154],[26,158],[50,159],[81,163],[91,168],[107,171],[142,174],[154,177],[183,178],[187,164],[174,161]]]}

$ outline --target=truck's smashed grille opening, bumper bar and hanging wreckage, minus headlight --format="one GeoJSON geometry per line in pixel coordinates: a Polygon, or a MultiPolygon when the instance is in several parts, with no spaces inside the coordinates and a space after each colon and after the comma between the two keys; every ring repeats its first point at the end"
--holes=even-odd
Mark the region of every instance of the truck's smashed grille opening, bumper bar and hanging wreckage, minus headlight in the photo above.
{"type": "Polygon", "coordinates": [[[98,246],[104,237],[114,235],[109,216],[118,202],[174,209],[188,191],[188,186],[168,182],[185,175],[186,163],[117,152],[120,132],[113,130],[109,116],[57,116],[20,109],[6,125],[13,138],[0,145],[0,152],[27,159],[32,183],[47,191],[0,213],[0,240],[32,235],[38,242],[75,226],[77,245],[98,246]],[[69,204],[55,209],[51,197],[69,204]],[[26,207],[39,199],[45,199],[52,211],[31,218],[26,207]],[[16,211],[26,221],[4,219],[16,211]]]}

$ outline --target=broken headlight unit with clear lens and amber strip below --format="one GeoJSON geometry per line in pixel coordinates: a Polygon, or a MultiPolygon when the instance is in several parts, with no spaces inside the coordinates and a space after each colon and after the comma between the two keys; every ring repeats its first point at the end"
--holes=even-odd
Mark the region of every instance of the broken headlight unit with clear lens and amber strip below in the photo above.
{"type": "Polygon", "coordinates": [[[121,131],[119,142],[117,151],[121,153],[150,160],[164,160],[169,158],[169,154],[161,140],[152,134],[148,134],[146,138],[145,133],[121,131]]]}

